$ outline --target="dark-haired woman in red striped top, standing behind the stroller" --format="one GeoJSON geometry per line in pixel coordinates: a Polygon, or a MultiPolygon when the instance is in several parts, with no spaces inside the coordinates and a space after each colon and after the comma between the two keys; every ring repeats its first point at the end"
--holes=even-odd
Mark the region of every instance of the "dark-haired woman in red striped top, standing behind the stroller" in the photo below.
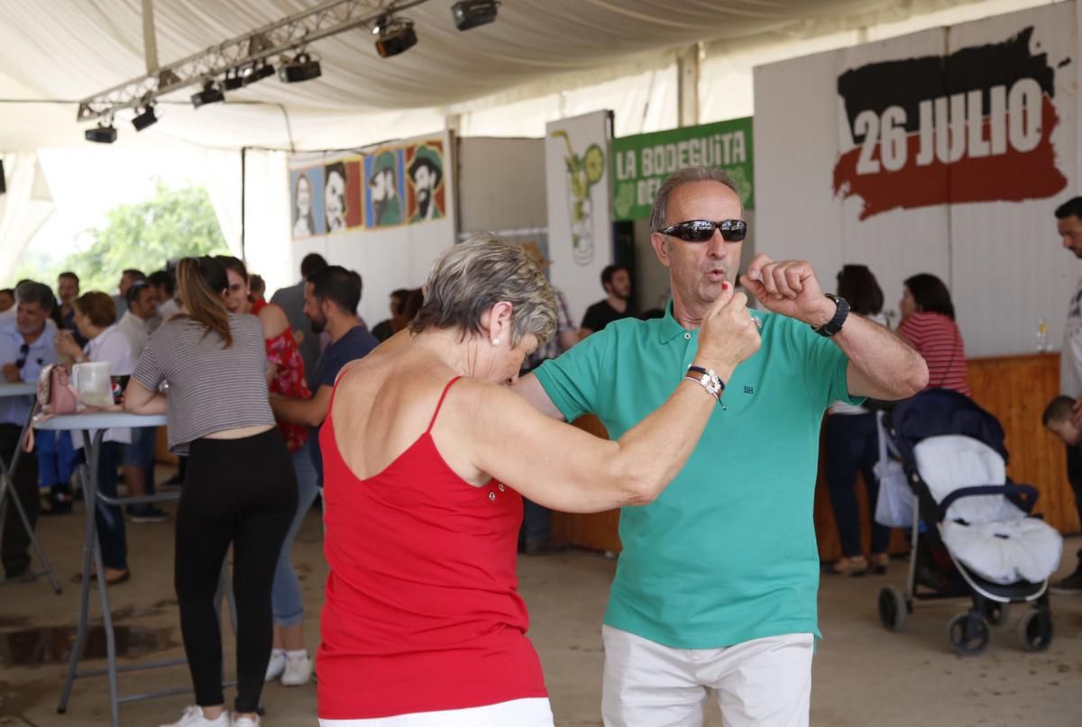
{"type": "Polygon", "coordinates": [[[928,273],[906,280],[898,335],[928,365],[928,388],[973,396],[965,378],[965,343],[954,322],[954,304],[944,281],[928,273]]]}

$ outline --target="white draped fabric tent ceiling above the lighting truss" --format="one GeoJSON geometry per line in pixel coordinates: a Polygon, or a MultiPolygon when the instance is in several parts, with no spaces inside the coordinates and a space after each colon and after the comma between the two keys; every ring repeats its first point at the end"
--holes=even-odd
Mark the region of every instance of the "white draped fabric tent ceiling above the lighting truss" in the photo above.
{"type": "MultiPolygon", "coordinates": [[[[699,41],[807,38],[968,2],[507,0],[494,24],[460,32],[451,21],[451,0],[431,0],[405,13],[415,22],[419,42],[400,56],[380,58],[371,34],[358,28],[313,44],[322,60],[322,78],[294,84],[267,79],[230,93],[229,100],[281,104],[298,148],[356,146],[441,128],[446,113],[470,110],[463,105],[478,98],[502,106],[549,88],[575,89],[663,67],[673,49],[699,41]],[[404,109],[427,110],[407,117],[404,109]]],[[[4,3],[0,96],[78,101],[140,76],[146,67],[141,4],[4,3]]],[[[303,0],[159,1],[154,5],[158,57],[163,64],[185,57],[313,5],[303,0]]],[[[196,90],[172,94],[181,105],[163,106],[161,121],[138,136],[223,147],[288,146],[281,108],[217,104],[194,111],[187,101],[196,90]]],[[[75,104],[5,105],[4,110],[10,108],[15,113],[0,114],[6,148],[82,143],[75,104]]],[[[118,118],[124,143],[136,137],[130,118],[130,113],[118,118]]]]}

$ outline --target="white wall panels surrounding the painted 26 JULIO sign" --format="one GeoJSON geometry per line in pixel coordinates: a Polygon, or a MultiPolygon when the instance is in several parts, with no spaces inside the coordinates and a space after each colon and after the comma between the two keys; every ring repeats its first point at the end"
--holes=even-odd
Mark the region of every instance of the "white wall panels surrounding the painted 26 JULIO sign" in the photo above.
{"type": "MultiPolygon", "coordinates": [[[[933,273],[952,290],[971,357],[1029,353],[1038,318],[1061,338],[1079,263],[1061,249],[1055,207],[1078,193],[1078,31],[1073,2],[927,30],[755,69],[757,248],[809,260],[830,289],[843,263],[865,263],[897,309],[902,280],[933,273]],[[1052,136],[1067,185],[1051,197],[895,209],[860,220],[863,201],[833,193],[854,148],[840,74],[870,62],[1001,43],[1033,26],[1030,53],[1055,69],[1059,125],[1052,136]],[[1070,58],[1070,63],[1060,63],[1070,58]]],[[[949,175],[951,166],[947,166],[949,175]]],[[[1010,180],[1004,181],[1007,186],[1010,180]]]]}

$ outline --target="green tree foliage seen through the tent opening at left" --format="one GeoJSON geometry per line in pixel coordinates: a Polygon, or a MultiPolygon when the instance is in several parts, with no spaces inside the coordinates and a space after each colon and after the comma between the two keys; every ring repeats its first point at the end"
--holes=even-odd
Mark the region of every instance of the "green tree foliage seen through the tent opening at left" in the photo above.
{"type": "Polygon", "coordinates": [[[74,270],[83,292],[111,292],[127,268],[149,275],[177,257],[228,254],[207,190],[171,189],[160,180],[150,199],[109,210],[105,224],[88,229],[87,237],[93,240],[89,248],[60,263],[43,265],[40,255],[27,255],[16,278],[34,277],[54,286],[56,274],[74,270]]]}

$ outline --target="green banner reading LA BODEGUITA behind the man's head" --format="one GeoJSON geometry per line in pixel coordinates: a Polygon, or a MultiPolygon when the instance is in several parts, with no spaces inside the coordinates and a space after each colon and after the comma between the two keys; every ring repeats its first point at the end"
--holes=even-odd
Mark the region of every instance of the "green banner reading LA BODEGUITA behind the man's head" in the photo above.
{"type": "Polygon", "coordinates": [[[684,167],[721,167],[755,209],[751,117],[612,140],[612,216],[645,220],[665,177],[684,167]]]}

